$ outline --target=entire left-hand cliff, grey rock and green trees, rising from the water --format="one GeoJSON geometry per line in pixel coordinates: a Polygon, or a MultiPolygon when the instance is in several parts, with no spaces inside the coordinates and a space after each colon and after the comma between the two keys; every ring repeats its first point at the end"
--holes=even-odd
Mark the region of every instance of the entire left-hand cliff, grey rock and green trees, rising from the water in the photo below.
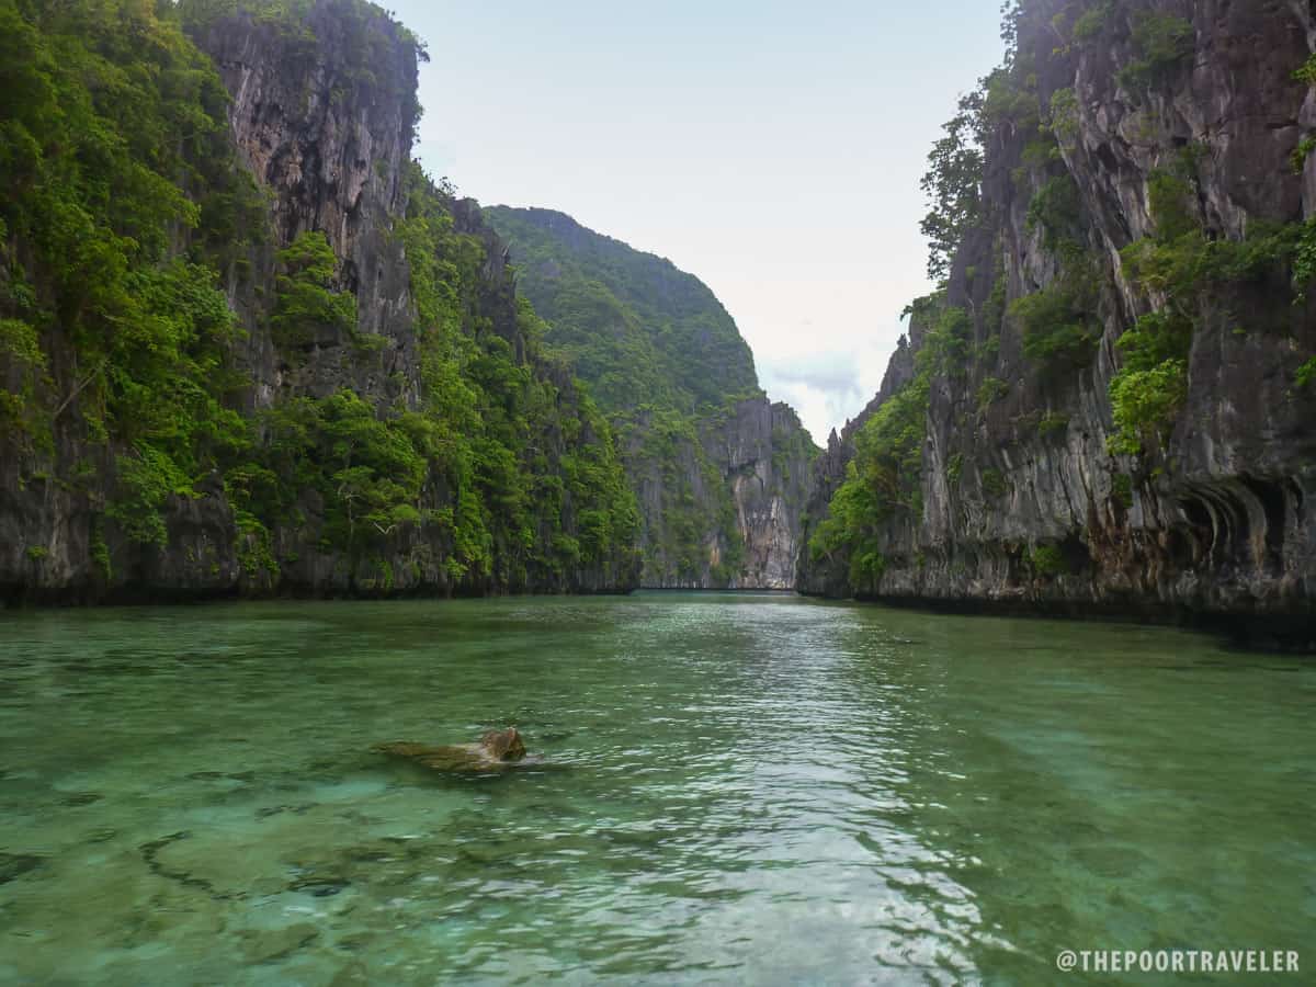
{"type": "MultiPolygon", "coordinates": [[[[161,184],[168,195],[197,197],[200,228],[170,226],[155,266],[186,261],[199,274],[186,292],[172,282],[172,293],[155,291],[157,308],[138,317],[191,333],[175,333],[190,375],[175,379],[204,397],[197,438],[167,434],[167,416],[163,432],[116,417],[130,405],[114,387],[170,390],[171,371],[147,380],[146,357],[97,343],[87,328],[96,322],[72,324],[74,290],[24,241],[39,234],[39,213],[7,212],[32,232],[11,220],[0,287],[32,282],[50,313],[13,312],[39,330],[26,362],[0,338],[0,408],[26,416],[0,415],[0,594],[633,588],[634,500],[605,420],[571,368],[537,349],[537,320],[478,204],[453,200],[411,163],[415,39],[357,0],[317,0],[297,14],[255,0],[180,9],[204,55],[183,39],[174,8],[114,29],[166,38],[203,80],[205,55],[213,61],[230,101],[204,92],[199,103],[226,113],[226,126],[187,163],[254,179],[208,176],[197,190],[183,168],[184,178],[161,176],[179,182],[161,184]],[[328,254],[315,254],[308,234],[328,254]],[[211,272],[240,332],[209,301],[211,272]],[[192,309],[220,328],[201,326],[192,309]],[[113,378],[103,384],[88,365],[113,378]]],[[[97,30],[70,17],[59,29],[75,38],[97,30]]],[[[107,129],[130,125],[112,105],[96,112],[107,129]]],[[[105,225],[141,236],[134,218],[109,211],[105,225]]],[[[126,320],[109,316],[113,340],[126,320]]]]}

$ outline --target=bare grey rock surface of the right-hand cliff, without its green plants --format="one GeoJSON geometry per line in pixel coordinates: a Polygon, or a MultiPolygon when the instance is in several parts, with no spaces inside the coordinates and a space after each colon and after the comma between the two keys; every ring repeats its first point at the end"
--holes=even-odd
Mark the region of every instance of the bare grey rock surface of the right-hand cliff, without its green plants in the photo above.
{"type": "MultiPolygon", "coordinates": [[[[1295,383],[1316,353],[1311,301],[1291,304],[1283,282],[1215,292],[1213,304],[1192,313],[1188,397],[1165,449],[1140,458],[1107,451],[1108,391],[1123,359],[1115,343],[1155,301],[1130,283],[1119,255],[1152,229],[1153,171],[1198,149],[1195,211],[1208,237],[1238,240],[1266,222],[1316,215],[1316,158],[1300,175],[1290,162],[1316,128],[1312,92],[1292,76],[1312,53],[1313,29],[1311,7],[1284,0],[1121,1],[1091,43],[1058,50],[1049,28],[1023,38],[1038,66],[1042,104],[1057,89],[1074,91],[1076,133],[1061,142],[1062,161],[1049,172],[1023,167],[1030,134],[1001,125],[988,136],[988,218],[955,258],[948,304],[974,315],[974,342],[984,343],[991,279],[982,272],[1003,270],[1011,300],[1054,282],[1058,265],[1030,229],[1028,208],[1048,174],[1069,174],[1084,246],[1098,258],[1104,332],[1090,367],[1040,375],[1007,318],[995,358],[963,379],[933,382],[923,509],[886,525],[887,570],[862,595],[1244,619],[1273,625],[1288,642],[1316,642],[1316,395],[1295,383]],[[1117,80],[1136,55],[1130,28],[1140,9],[1194,28],[1192,57],[1145,95],[1117,80]],[[1009,391],[980,408],[975,393],[988,376],[1009,391]],[[1041,429],[1044,417],[1065,424],[1041,429]],[[1062,574],[1030,565],[1041,546],[1062,553],[1062,574]]],[[[896,355],[896,379],[907,359],[904,350],[896,355]]],[[[844,476],[851,432],[820,462],[813,517],[824,516],[820,501],[844,476]]],[[[844,572],[808,558],[799,586],[855,591],[844,572]]]]}

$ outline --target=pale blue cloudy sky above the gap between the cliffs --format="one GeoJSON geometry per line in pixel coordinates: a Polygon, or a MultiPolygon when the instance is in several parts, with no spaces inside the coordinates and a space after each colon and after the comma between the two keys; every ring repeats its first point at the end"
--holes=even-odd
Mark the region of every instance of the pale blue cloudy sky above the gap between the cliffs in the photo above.
{"type": "Polygon", "coordinates": [[[919,191],[998,0],[421,3],[417,154],[491,205],[561,209],[703,279],[821,443],[928,288],[919,191]]]}

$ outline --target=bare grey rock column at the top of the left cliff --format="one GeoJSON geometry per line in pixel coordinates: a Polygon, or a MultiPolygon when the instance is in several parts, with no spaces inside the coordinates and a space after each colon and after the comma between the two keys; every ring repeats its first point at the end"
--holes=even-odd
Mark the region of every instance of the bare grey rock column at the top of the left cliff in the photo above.
{"type": "MultiPolygon", "coordinates": [[[[416,395],[409,267],[391,236],[407,205],[415,50],[396,24],[346,0],[313,5],[296,29],[242,14],[213,18],[196,28],[196,43],[232,96],[228,116],[240,158],[270,192],[271,245],[255,258],[265,278],[229,283],[234,309],[254,330],[249,368],[257,407],[271,404],[286,387],[321,395],[343,386],[382,392],[383,379],[393,374],[416,395]],[[263,305],[254,290],[272,282],[274,249],[309,230],[322,232],[341,261],[341,286],[357,297],[355,330],[388,338],[379,363],[362,367],[345,334],[330,330],[293,370],[270,333],[261,332],[263,305]]],[[[491,275],[496,282],[499,272],[491,275]]]]}

